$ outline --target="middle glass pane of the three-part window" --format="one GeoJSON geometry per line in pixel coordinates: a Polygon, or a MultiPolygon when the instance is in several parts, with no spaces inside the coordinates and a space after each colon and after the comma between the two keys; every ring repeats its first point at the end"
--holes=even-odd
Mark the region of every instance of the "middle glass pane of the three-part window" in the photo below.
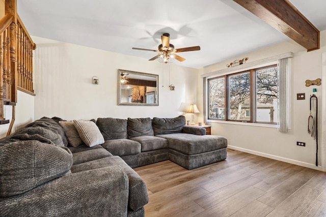
{"type": "Polygon", "coordinates": [[[229,76],[229,119],[250,120],[250,106],[250,73],[229,76]]]}

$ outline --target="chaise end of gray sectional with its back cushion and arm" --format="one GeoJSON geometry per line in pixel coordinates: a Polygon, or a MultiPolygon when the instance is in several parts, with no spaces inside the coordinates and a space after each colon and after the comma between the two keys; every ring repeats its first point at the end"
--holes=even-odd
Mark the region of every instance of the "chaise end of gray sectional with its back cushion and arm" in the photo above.
{"type": "Polygon", "coordinates": [[[154,135],[168,141],[169,160],[188,169],[226,159],[227,139],[205,135],[204,128],[185,125],[185,117],[153,118],[154,135]]]}

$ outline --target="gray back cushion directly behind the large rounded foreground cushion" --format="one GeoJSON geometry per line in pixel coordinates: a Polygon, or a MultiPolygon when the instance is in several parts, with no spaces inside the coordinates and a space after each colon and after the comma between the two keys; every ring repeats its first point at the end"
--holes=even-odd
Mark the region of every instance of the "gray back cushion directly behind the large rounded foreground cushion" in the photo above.
{"type": "Polygon", "coordinates": [[[65,146],[62,137],[58,133],[54,133],[48,128],[40,126],[23,128],[11,137],[18,140],[37,140],[43,143],[65,146]]]}

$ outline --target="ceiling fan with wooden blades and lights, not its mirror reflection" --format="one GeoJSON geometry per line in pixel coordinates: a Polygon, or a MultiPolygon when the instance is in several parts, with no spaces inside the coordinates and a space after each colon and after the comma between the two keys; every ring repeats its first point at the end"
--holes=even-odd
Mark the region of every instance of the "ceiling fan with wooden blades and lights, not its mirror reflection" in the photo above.
{"type": "Polygon", "coordinates": [[[158,59],[158,61],[160,63],[165,63],[165,64],[172,63],[175,59],[179,60],[180,62],[185,60],[185,58],[183,58],[175,53],[200,50],[200,46],[174,48],[174,45],[170,44],[170,34],[169,33],[163,34],[161,36],[161,41],[162,41],[162,44],[158,45],[157,50],[137,48],[137,47],[133,47],[132,49],[159,52],[156,56],[154,56],[153,58],[151,58],[149,60],[158,59]]]}

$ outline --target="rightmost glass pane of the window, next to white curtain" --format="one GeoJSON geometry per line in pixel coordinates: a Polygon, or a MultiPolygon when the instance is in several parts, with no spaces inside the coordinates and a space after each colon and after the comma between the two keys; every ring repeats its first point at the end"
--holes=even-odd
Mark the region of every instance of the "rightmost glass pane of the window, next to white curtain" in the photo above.
{"type": "Polygon", "coordinates": [[[277,67],[256,71],[256,121],[277,122],[277,67]]]}

